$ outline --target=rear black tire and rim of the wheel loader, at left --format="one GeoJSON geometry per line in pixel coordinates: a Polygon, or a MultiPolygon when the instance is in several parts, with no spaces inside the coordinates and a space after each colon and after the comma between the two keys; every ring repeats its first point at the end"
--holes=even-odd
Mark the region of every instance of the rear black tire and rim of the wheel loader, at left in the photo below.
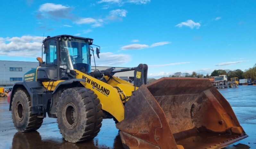
{"type": "Polygon", "coordinates": [[[37,130],[43,122],[37,114],[31,113],[30,96],[26,90],[18,89],[13,95],[12,118],[15,128],[20,132],[37,130]]]}

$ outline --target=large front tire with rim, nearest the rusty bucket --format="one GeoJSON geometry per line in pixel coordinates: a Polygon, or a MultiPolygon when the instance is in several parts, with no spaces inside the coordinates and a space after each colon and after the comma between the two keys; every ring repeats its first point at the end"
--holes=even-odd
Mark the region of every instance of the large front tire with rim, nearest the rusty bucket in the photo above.
{"type": "Polygon", "coordinates": [[[90,89],[64,90],[57,103],[57,123],[62,137],[72,143],[96,137],[102,122],[101,108],[97,95],[90,89]]]}

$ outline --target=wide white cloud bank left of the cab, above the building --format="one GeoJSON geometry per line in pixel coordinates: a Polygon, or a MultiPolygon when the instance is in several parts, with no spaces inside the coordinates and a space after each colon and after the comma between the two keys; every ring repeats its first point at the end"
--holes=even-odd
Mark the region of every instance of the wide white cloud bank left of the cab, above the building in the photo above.
{"type": "Polygon", "coordinates": [[[0,37],[0,55],[2,56],[41,56],[41,36],[25,35],[21,37],[3,38],[0,37]]]}

